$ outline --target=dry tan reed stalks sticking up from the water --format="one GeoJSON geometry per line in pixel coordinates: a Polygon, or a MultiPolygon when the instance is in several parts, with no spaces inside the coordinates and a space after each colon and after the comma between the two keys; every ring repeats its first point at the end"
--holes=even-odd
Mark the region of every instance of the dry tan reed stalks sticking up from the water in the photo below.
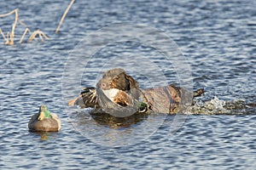
{"type": "MultiPolygon", "coordinates": [[[[63,23],[63,21],[65,20],[67,13],[69,11],[69,9],[72,7],[73,3],[75,2],[75,0],[71,0],[71,2],[69,3],[69,5],[67,6],[65,12],[62,14],[61,16],[61,20],[59,22],[59,25],[57,26],[55,33],[58,33],[60,31],[61,25],[63,23]]],[[[44,42],[44,40],[49,40],[49,36],[47,36],[44,31],[41,31],[40,29],[36,30],[36,31],[31,31],[31,29],[26,26],[26,24],[20,20],[19,18],[19,9],[15,8],[13,11],[10,11],[9,13],[6,14],[0,14],[0,18],[3,17],[7,17],[9,15],[15,14],[15,21],[12,24],[12,29],[11,31],[7,31],[6,34],[4,34],[4,32],[2,31],[1,27],[0,27],[0,34],[3,37],[4,40],[4,44],[5,45],[14,45],[15,44],[15,28],[19,25],[21,26],[25,26],[26,29],[23,31],[22,36],[19,39],[19,43],[22,42],[32,42],[33,40],[38,41],[38,38],[41,42],[44,42]],[[29,37],[25,40],[26,35],[29,35],[29,37]]]]}

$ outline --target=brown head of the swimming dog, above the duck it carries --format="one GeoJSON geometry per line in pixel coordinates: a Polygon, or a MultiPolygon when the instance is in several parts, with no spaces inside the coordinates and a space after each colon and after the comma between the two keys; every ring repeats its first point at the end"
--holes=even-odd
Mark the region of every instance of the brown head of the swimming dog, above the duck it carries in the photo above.
{"type": "Polygon", "coordinates": [[[97,83],[97,88],[102,88],[102,90],[117,88],[129,92],[134,88],[139,89],[139,85],[123,69],[112,69],[103,74],[102,79],[97,83]]]}

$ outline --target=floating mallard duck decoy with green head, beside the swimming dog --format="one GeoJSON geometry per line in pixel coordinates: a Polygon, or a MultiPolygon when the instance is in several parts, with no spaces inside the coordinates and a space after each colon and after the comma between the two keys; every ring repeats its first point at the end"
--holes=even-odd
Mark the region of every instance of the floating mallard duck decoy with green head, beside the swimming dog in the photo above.
{"type": "Polygon", "coordinates": [[[61,121],[45,105],[41,105],[38,113],[28,122],[28,128],[33,132],[57,132],[61,130],[61,121]]]}

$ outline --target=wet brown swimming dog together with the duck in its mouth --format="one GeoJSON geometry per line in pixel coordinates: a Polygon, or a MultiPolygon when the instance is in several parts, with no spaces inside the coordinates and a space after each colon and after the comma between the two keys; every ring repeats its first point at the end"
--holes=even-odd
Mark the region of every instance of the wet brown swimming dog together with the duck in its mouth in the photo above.
{"type": "Polygon", "coordinates": [[[204,93],[203,89],[199,89],[192,94],[174,85],[140,89],[138,82],[127,75],[123,69],[113,69],[103,74],[102,79],[96,84],[96,88],[84,88],[77,98],[68,102],[68,105],[79,105],[81,108],[100,108],[98,98],[101,96],[97,95],[97,88],[101,89],[108,99],[117,105],[125,107],[136,104],[139,105],[139,112],[154,111],[171,114],[178,111],[181,99],[191,99],[204,93]]]}

